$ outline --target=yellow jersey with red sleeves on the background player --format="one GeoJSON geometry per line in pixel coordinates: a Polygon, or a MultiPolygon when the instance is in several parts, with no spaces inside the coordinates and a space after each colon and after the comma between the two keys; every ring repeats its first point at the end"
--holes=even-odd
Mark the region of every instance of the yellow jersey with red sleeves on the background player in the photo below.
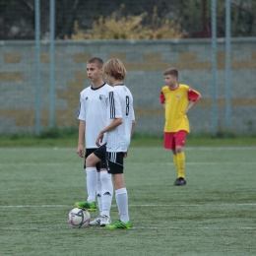
{"type": "Polygon", "coordinates": [[[168,86],[161,89],[160,102],[165,104],[164,132],[190,132],[187,115],[184,114],[190,100],[196,101],[200,94],[187,85],[179,84],[174,90],[168,86]]]}

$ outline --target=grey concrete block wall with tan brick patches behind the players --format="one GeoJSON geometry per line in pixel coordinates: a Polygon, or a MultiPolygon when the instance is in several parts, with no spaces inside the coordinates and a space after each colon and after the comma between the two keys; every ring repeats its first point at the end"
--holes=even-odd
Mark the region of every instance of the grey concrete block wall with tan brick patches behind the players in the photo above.
{"type": "MultiPolygon", "coordinates": [[[[225,127],[224,39],[218,40],[218,129],[225,127]]],[[[80,92],[90,86],[86,61],[120,58],[125,84],[134,96],[136,130],[161,134],[162,72],[175,67],[179,83],[202,94],[189,112],[191,132],[212,131],[212,51],[210,39],[56,41],[54,117],[61,127],[76,126],[80,92]]],[[[256,126],[256,38],[231,40],[231,125],[248,133],[256,126]]],[[[41,42],[41,127],[49,123],[49,44],[41,42]]],[[[0,133],[34,131],[35,48],[33,41],[0,41],[0,133]]]]}

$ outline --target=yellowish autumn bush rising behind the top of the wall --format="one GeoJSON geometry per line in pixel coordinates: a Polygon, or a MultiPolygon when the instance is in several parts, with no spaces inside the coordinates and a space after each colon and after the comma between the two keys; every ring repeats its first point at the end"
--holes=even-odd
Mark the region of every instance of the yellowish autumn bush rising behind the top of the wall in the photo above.
{"type": "Polygon", "coordinates": [[[74,23],[72,39],[161,39],[181,38],[180,23],[159,18],[157,7],[154,8],[153,16],[147,13],[138,16],[123,16],[124,5],[118,12],[110,16],[102,16],[93,23],[93,29],[87,32],[79,29],[77,22],[74,23]]]}

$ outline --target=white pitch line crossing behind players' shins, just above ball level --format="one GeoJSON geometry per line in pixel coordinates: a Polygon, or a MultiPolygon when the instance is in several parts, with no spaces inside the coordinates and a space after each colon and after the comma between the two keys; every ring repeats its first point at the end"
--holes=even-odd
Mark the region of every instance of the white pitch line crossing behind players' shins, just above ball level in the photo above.
{"type": "MultiPolygon", "coordinates": [[[[116,207],[116,205],[112,205],[116,207]]],[[[256,206],[256,203],[241,203],[241,204],[180,204],[180,205],[129,205],[129,207],[225,207],[225,206],[256,206]]],[[[17,206],[0,206],[4,208],[64,208],[70,205],[17,205],[17,206]]]]}

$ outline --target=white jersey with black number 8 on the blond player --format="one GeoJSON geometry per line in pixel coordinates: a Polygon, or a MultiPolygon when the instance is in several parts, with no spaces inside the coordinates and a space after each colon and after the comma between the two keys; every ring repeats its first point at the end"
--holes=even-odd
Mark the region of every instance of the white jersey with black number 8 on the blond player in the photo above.
{"type": "Polygon", "coordinates": [[[131,141],[132,120],[135,120],[133,96],[123,84],[111,89],[107,105],[107,125],[115,118],[122,118],[123,123],[107,132],[107,152],[127,152],[131,141]]]}

